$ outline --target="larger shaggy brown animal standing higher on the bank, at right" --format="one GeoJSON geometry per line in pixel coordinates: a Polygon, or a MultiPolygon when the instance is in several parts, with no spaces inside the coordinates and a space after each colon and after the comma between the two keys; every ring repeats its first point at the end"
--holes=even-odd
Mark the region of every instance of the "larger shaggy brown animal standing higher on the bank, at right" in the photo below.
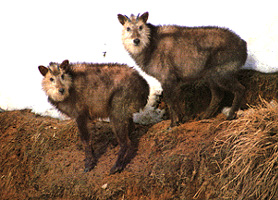
{"type": "Polygon", "coordinates": [[[216,113],[225,90],[234,94],[227,119],[235,117],[245,91],[236,78],[247,59],[244,40],[218,27],[154,26],[147,23],[148,12],[130,18],[119,14],[118,19],[123,25],[125,49],[146,73],[162,84],[170,107],[171,126],[183,122],[182,85],[198,79],[208,83],[212,95],[202,118],[216,113]]]}

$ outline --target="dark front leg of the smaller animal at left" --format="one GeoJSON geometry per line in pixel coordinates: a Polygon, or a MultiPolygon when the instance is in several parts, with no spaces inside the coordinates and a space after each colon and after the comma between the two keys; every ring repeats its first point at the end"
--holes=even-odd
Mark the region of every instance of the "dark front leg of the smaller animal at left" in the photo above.
{"type": "Polygon", "coordinates": [[[85,169],[84,172],[91,171],[97,163],[97,158],[94,154],[94,150],[92,147],[92,137],[89,133],[88,126],[87,126],[88,118],[87,116],[79,116],[76,119],[76,123],[79,129],[80,138],[82,144],[85,148],[85,169]]]}

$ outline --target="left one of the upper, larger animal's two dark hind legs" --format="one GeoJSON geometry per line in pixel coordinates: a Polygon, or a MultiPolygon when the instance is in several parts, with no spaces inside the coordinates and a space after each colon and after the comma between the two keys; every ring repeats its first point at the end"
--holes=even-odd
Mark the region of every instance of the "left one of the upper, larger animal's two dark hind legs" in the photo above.
{"type": "Polygon", "coordinates": [[[203,116],[201,116],[201,119],[208,119],[212,117],[217,112],[219,104],[224,97],[224,92],[213,81],[209,81],[209,88],[211,91],[211,101],[206,112],[203,116]]]}

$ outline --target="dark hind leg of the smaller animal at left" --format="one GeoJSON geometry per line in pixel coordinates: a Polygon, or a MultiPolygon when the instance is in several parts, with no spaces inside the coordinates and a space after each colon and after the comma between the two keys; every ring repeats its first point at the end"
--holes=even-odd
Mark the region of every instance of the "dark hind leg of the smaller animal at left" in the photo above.
{"type": "Polygon", "coordinates": [[[110,120],[113,132],[120,145],[117,161],[110,170],[110,174],[114,174],[121,172],[133,155],[134,149],[131,140],[129,139],[129,133],[134,130],[134,123],[132,118],[128,119],[124,116],[123,118],[111,116],[110,120]]]}

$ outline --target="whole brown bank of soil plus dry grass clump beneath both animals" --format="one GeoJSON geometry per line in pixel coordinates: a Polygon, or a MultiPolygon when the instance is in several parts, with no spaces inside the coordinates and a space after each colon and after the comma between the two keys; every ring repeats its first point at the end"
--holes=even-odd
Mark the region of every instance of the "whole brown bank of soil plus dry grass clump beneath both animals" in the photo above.
{"type": "Polygon", "coordinates": [[[246,99],[256,105],[236,120],[219,114],[172,129],[169,120],[136,125],[130,136],[136,155],[122,173],[110,176],[119,147],[109,123],[91,123],[99,160],[84,173],[85,155],[73,121],[30,110],[0,113],[0,195],[31,200],[278,199],[278,105],[267,97],[272,92],[276,98],[277,80],[267,77],[249,83],[267,101],[248,96],[249,90],[246,99]]]}

